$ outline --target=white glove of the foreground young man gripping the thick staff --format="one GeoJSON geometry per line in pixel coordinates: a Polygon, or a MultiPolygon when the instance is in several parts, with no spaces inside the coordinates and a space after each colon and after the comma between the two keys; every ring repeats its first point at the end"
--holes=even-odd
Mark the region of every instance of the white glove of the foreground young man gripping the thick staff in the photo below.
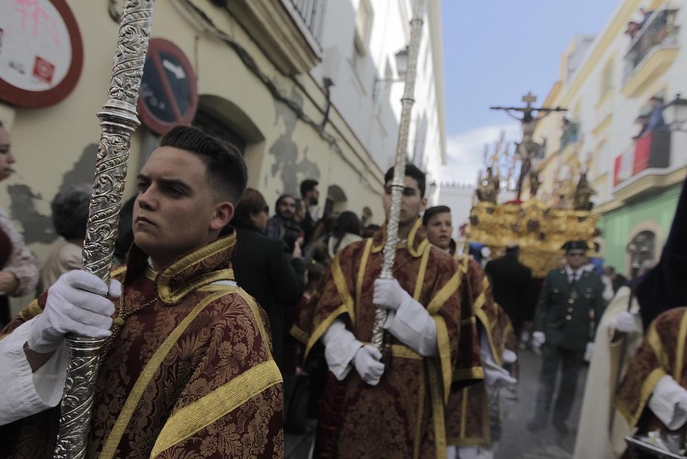
{"type": "Polygon", "coordinates": [[[41,353],[52,352],[67,333],[78,333],[93,338],[111,334],[115,305],[105,297],[118,298],[122,285],[112,280],[108,289],[105,282],[86,271],[69,271],[63,274],[47,291],[43,313],[36,316],[27,343],[41,353]]]}

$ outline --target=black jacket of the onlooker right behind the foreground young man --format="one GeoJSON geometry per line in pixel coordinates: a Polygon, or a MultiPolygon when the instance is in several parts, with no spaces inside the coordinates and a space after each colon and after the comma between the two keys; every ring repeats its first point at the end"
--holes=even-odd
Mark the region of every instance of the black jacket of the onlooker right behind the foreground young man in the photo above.
{"type": "Polygon", "coordinates": [[[293,323],[291,316],[305,283],[303,260],[289,258],[282,240],[270,239],[254,226],[236,225],[236,252],[232,258],[236,283],[267,313],[273,355],[280,367],[284,337],[293,323]]]}

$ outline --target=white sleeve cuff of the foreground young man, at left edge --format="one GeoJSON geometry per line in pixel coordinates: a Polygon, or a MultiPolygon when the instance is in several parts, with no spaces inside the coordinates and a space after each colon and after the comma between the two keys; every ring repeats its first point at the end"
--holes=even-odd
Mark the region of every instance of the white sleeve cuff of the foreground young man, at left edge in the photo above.
{"type": "Polygon", "coordinates": [[[67,349],[61,345],[36,372],[24,353],[34,319],[0,340],[0,386],[4,389],[0,425],[12,423],[57,406],[67,379],[67,349]]]}

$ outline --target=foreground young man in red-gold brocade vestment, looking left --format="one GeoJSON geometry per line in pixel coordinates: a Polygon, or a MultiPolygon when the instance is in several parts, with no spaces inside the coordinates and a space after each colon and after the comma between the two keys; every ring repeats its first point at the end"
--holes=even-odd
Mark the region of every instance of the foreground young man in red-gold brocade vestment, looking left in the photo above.
{"type": "Polygon", "coordinates": [[[109,291],[118,300],[70,271],[5,328],[14,374],[3,388],[16,403],[0,419],[3,457],[52,457],[65,333],[106,337],[88,458],[283,456],[269,329],[234,282],[236,235],[218,238],[246,181],[238,152],[198,129],[162,138],[138,176],[135,243],[109,291]]]}

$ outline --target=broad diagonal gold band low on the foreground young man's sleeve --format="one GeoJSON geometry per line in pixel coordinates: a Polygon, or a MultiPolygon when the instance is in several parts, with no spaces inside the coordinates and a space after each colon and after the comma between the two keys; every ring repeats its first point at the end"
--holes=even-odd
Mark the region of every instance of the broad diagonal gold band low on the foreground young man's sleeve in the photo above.
{"type": "Polygon", "coordinates": [[[273,360],[264,361],[170,416],[155,440],[150,458],[200,432],[254,396],[282,382],[273,360]]]}

